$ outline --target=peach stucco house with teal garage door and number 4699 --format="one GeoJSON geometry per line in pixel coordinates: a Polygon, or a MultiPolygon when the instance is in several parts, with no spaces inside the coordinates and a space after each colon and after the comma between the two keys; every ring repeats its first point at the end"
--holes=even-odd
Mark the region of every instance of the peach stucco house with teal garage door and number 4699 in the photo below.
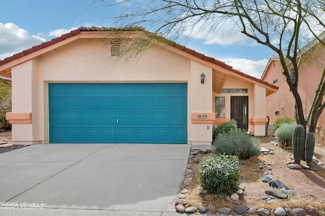
{"type": "Polygon", "coordinates": [[[212,126],[231,118],[265,135],[278,87],[144,29],[118,30],[80,27],[0,61],[15,143],[211,145],[212,126]],[[154,46],[120,56],[139,37],[154,46]]]}

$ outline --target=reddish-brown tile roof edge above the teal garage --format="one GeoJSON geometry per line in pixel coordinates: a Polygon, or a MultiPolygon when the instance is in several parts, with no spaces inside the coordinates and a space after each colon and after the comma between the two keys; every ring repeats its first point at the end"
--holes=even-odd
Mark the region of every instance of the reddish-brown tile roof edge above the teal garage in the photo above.
{"type": "Polygon", "coordinates": [[[71,38],[74,35],[79,34],[82,31],[142,31],[142,32],[150,35],[153,38],[162,39],[164,42],[167,42],[168,45],[170,45],[170,46],[172,46],[174,48],[177,48],[177,49],[179,49],[181,51],[184,51],[184,52],[186,52],[186,53],[188,53],[190,55],[193,55],[195,57],[198,57],[198,58],[200,58],[200,59],[202,59],[204,61],[207,61],[207,62],[211,62],[213,64],[216,64],[216,65],[218,65],[218,66],[220,66],[220,67],[222,67],[222,68],[224,68],[226,70],[232,71],[235,74],[238,74],[240,76],[246,77],[246,78],[248,78],[248,79],[250,79],[252,81],[256,81],[258,83],[262,83],[262,84],[267,85],[267,86],[269,86],[271,88],[274,88],[274,89],[278,89],[279,88],[279,87],[277,87],[277,86],[275,86],[273,84],[270,84],[270,83],[268,83],[266,81],[263,81],[261,79],[257,79],[255,77],[252,77],[252,76],[247,75],[247,74],[244,74],[244,73],[242,73],[241,71],[239,71],[237,69],[233,69],[233,67],[231,65],[225,64],[224,62],[219,61],[219,60],[217,60],[217,59],[215,59],[213,57],[206,56],[206,55],[204,55],[202,53],[199,53],[199,52],[197,52],[195,50],[192,50],[192,49],[189,49],[189,48],[187,48],[185,46],[179,45],[176,42],[167,40],[166,38],[163,38],[163,37],[159,37],[158,35],[153,34],[150,31],[146,31],[143,27],[115,28],[115,27],[95,27],[95,26],[92,26],[92,27],[83,27],[83,26],[81,26],[78,29],[75,29],[75,30],[70,31],[69,33],[62,34],[60,37],[54,38],[51,41],[47,41],[47,42],[44,42],[44,43],[42,43],[40,45],[33,46],[33,47],[29,48],[29,49],[23,50],[20,53],[16,53],[13,56],[10,56],[10,57],[7,57],[7,58],[5,58],[3,60],[0,60],[0,66],[3,65],[3,64],[8,63],[10,61],[13,61],[15,59],[18,59],[18,58],[20,58],[22,56],[28,55],[29,53],[35,52],[37,50],[43,49],[45,47],[49,47],[49,46],[51,46],[51,45],[53,45],[55,43],[58,43],[58,42],[61,42],[63,40],[66,40],[68,38],[71,38]]]}

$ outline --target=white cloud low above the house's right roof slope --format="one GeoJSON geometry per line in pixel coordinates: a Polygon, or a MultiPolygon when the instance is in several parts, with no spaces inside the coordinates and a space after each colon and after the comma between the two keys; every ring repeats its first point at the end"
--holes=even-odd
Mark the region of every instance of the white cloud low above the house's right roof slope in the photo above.
{"type": "Polygon", "coordinates": [[[218,60],[233,66],[234,69],[240,70],[241,72],[258,79],[261,79],[263,71],[269,61],[268,59],[253,61],[245,58],[221,58],[218,60]]]}

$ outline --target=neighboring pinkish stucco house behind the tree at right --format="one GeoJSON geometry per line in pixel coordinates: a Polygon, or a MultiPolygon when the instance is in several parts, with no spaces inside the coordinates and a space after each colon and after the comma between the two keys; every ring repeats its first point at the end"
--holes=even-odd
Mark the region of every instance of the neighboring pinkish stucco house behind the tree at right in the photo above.
{"type": "MultiPolygon", "coordinates": [[[[323,70],[325,68],[325,59],[323,58],[323,48],[312,47],[304,54],[299,67],[298,91],[303,103],[304,114],[307,118],[310,107],[315,97],[315,91],[318,87],[323,70]],[[316,52],[313,52],[316,50],[316,52]],[[318,54],[317,54],[318,53],[318,54]],[[307,57],[308,56],[308,57],[307,57]]],[[[272,56],[264,70],[262,80],[272,83],[279,87],[279,90],[266,98],[266,114],[270,117],[270,127],[268,134],[273,135],[273,123],[276,119],[289,117],[295,118],[295,98],[291,93],[286,79],[282,74],[283,68],[278,56],[272,56]]],[[[291,76],[294,77],[294,74],[291,76]]],[[[317,131],[325,127],[325,118],[320,115],[317,131]]],[[[317,132],[316,131],[316,132],[317,132]]]]}

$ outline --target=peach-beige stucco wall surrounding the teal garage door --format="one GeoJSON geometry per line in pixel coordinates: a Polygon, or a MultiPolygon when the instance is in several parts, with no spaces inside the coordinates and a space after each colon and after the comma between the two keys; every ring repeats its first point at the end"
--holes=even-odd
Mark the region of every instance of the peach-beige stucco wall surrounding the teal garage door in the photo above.
{"type": "Polygon", "coordinates": [[[188,143],[212,141],[212,124],[191,122],[192,112],[212,114],[212,69],[161,47],[120,59],[110,57],[101,39],[79,39],[13,67],[12,82],[13,113],[32,113],[32,124],[13,124],[17,143],[48,143],[48,83],[52,82],[186,82],[188,143]]]}

